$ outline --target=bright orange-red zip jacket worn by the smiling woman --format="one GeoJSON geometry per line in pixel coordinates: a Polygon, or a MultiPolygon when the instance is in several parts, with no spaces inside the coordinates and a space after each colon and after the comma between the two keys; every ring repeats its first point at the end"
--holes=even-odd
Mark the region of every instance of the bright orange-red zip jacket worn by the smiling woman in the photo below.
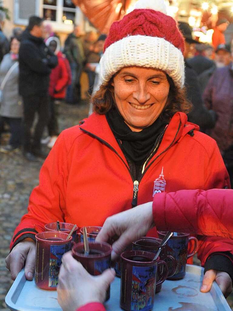
{"type": "MultiPolygon", "coordinates": [[[[139,186],[104,115],[63,131],[45,160],[39,186],[30,195],[28,214],[15,230],[11,248],[24,234],[44,230],[44,224],[66,221],[81,227],[103,225],[108,216],[156,199],[156,192],[230,187],[216,142],[188,123],[184,113],[171,119],[158,151],[146,163],[139,186]],[[138,191],[137,191],[138,190],[138,191]]],[[[156,228],[149,235],[157,236],[156,228]]],[[[218,238],[200,239],[199,258],[232,245],[218,238]],[[222,246],[221,246],[222,245],[222,246]]]]}

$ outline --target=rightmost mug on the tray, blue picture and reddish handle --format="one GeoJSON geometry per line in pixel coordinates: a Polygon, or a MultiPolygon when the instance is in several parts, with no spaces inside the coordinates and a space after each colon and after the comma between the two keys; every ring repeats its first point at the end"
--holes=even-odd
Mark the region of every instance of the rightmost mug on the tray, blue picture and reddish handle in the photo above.
{"type": "MultiPolygon", "coordinates": [[[[158,231],[158,236],[163,239],[167,231],[158,231]]],[[[185,276],[186,261],[188,258],[195,255],[198,248],[198,240],[189,236],[189,233],[178,232],[176,235],[172,235],[167,241],[166,255],[171,255],[176,258],[177,268],[176,273],[169,277],[169,280],[179,280],[185,276]],[[189,244],[194,241],[193,249],[190,250],[189,244]]]]}

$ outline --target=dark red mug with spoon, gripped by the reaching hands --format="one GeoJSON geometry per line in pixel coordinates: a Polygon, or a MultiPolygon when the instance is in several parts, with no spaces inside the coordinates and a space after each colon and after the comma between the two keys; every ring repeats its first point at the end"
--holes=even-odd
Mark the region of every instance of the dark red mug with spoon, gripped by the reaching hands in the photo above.
{"type": "MultiPolygon", "coordinates": [[[[73,257],[81,262],[83,267],[91,275],[100,275],[104,270],[111,268],[111,252],[110,244],[102,242],[89,242],[89,255],[84,252],[84,243],[80,242],[73,246],[73,257]]],[[[107,290],[106,301],[110,298],[110,286],[107,290]]]]}

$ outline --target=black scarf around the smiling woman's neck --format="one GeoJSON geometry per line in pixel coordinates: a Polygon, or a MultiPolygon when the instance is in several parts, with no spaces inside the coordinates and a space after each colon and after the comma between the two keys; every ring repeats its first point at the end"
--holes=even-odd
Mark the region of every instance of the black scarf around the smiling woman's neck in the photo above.
{"type": "Polygon", "coordinates": [[[106,118],[126,159],[129,157],[135,165],[141,165],[148,158],[157,138],[162,135],[167,125],[158,118],[141,132],[133,132],[115,108],[107,112],[106,118]]]}

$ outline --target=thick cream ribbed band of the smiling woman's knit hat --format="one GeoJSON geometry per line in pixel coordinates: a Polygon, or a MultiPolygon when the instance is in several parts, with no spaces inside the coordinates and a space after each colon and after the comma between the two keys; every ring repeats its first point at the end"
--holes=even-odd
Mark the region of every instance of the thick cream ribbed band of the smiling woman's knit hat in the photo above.
{"type": "Polygon", "coordinates": [[[111,44],[100,60],[100,79],[106,83],[121,68],[129,66],[163,70],[177,87],[184,86],[183,54],[163,38],[135,35],[111,44]]]}

